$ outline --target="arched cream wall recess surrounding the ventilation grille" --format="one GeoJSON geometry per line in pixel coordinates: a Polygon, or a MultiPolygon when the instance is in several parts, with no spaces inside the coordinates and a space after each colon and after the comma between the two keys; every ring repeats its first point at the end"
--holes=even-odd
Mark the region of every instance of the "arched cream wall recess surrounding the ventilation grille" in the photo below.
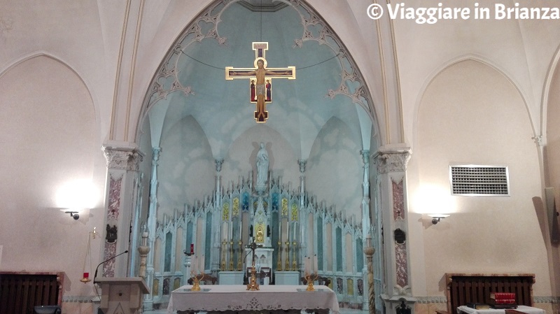
{"type": "Polygon", "coordinates": [[[538,149],[512,83],[477,61],[449,66],[423,94],[417,133],[409,210],[451,213],[436,225],[425,215],[409,221],[420,236],[411,238],[411,260],[425,260],[415,271],[426,273],[426,295],[444,294],[446,272],[535,273],[534,294],[550,295],[547,239],[533,206],[542,193],[538,149]],[[507,166],[510,197],[451,197],[449,164],[507,166]]]}

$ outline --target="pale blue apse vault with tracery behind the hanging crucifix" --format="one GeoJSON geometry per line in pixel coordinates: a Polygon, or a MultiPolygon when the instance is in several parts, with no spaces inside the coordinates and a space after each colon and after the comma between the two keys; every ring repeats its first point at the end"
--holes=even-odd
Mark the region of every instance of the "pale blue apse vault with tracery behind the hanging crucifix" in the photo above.
{"type": "Polygon", "coordinates": [[[266,122],[294,152],[307,158],[318,132],[332,117],[369,145],[371,97],[342,42],[303,3],[271,0],[214,3],[186,27],[146,97],[152,142],[193,116],[214,156],[221,157],[238,136],[254,127],[249,81],[225,80],[225,67],[253,68],[255,41],[269,43],[268,68],[295,66],[295,80],[273,80],[266,122]]]}

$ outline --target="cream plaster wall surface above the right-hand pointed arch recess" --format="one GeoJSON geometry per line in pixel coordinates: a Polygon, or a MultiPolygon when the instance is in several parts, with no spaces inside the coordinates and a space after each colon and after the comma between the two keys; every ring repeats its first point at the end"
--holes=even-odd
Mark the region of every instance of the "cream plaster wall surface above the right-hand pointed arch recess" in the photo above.
{"type": "MultiPolygon", "coordinates": [[[[439,0],[407,0],[406,8],[437,7],[439,0]]],[[[503,3],[508,8],[556,7],[554,0],[545,1],[444,1],[444,7],[493,8],[503,3]]],[[[465,57],[475,57],[492,64],[510,77],[525,99],[529,121],[535,134],[540,134],[540,110],[545,78],[551,59],[559,46],[560,20],[440,20],[436,24],[416,24],[414,20],[393,20],[395,48],[398,55],[403,123],[406,143],[414,140],[416,110],[423,90],[449,64],[465,57]]],[[[413,147],[414,149],[414,147],[413,147]]]]}

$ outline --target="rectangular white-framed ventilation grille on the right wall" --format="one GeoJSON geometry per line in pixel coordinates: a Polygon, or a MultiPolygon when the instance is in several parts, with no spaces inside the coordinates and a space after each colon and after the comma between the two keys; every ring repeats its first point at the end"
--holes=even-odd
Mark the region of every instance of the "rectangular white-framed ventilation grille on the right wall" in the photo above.
{"type": "Polygon", "coordinates": [[[510,195],[507,167],[449,166],[453,195],[510,195]]]}

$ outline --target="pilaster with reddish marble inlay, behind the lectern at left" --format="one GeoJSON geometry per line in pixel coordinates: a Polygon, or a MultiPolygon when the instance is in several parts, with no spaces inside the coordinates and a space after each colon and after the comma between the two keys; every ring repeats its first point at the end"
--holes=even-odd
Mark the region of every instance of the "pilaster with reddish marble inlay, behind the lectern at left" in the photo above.
{"type": "MultiPolygon", "coordinates": [[[[106,217],[104,253],[102,260],[110,259],[125,250],[130,252],[130,220],[134,213],[134,182],[137,180],[143,155],[132,146],[104,145],[107,162],[106,217]]],[[[127,257],[116,257],[103,264],[102,276],[125,277],[127,257]]]]}

